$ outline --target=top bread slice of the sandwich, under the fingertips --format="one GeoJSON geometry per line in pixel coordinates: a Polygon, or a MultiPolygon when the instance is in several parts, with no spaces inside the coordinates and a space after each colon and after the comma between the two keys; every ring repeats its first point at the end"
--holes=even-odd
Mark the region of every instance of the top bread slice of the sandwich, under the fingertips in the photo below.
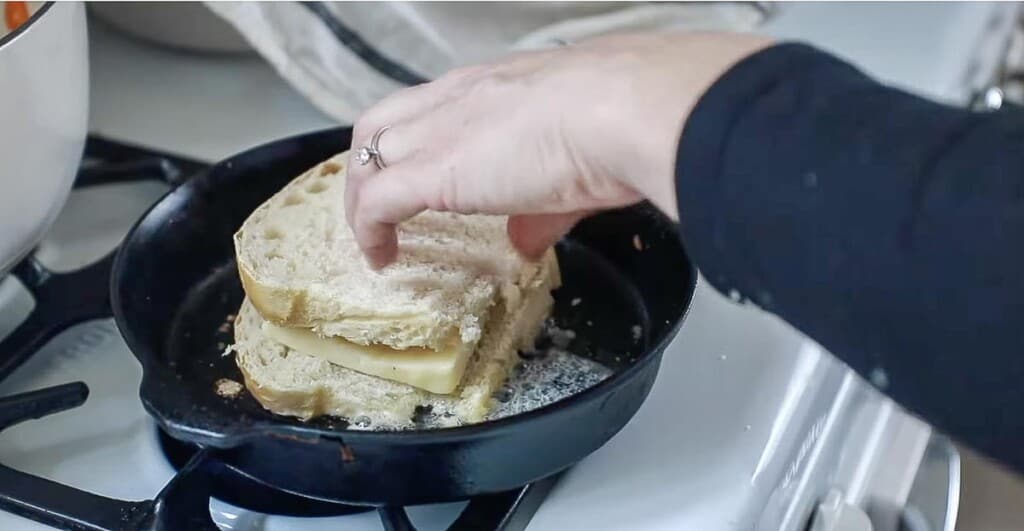
{"type": "MultiPolygon", "coordinates": [[[[396,349],[475,344],[500,293],[542,275],[507,218],[424,212],[398,227],[398,260],[374,271],[345,221],[343,152],[297,177],[234,235],[239,274],[260,315],[396,349]]],[[[372,177],[371,177],[372,178],[372,177]]]]}

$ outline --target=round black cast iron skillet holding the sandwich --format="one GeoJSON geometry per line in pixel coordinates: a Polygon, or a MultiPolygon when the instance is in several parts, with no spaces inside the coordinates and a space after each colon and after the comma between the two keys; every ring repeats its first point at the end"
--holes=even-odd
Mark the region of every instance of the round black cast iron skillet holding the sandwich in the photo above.
{"type": "Polygon", "coordinates": [[[496,422],[403,432],[302,423],[248,393],[214,392],[219,379],[242,382],[222,355],[231,341],[223,323],[243,297],[231,234],[291,178],[348,146],[350,134],[295,136],[228,159],[168,193],[129,232],[112,304],[160,426],[271,486],[371,505],[506,491],[570,467],[618,432],[650,391],[696,281],[673,224],[643,206],[585,220],[557,248],[564,286],[554,317],[577,333],[569,350],[614,369],[585,392],[496,422]]]}

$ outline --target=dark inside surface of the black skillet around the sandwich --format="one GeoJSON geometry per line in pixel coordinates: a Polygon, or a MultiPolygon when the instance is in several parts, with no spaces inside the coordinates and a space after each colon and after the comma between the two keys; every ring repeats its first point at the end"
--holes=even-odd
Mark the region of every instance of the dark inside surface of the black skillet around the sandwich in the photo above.
{"type": "MultiPolygon", "coordinates": [[[[223,355],[243,297],[231,235],[291,178],[347,146],[348,135],[303,135],[225,161],[172,191],[126,238],[112,282],[115,313],[144,367],[143,402],[172,435],[232,446],[253,433],[325,435],[346,427],[340,418],[275,415],[247,392],[226,398],[215,386],[242,382],[233,357],[223,355]]],[[[695,273],[673,226],[653,209],[585,220],[557,251],[564,285],[553,318],[575,333],[568,350],[623,373],[671,338],[695,273]]],[[[453,430],[465,428],[438,431],[453,430]]]]}

